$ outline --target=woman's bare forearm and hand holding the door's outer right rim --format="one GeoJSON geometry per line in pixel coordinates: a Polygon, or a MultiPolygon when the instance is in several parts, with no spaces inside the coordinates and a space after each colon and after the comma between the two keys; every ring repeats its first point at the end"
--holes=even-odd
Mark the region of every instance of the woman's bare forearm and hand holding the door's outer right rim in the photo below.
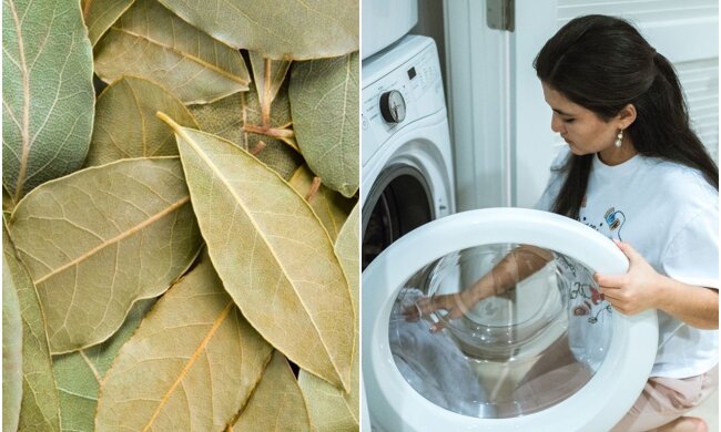
{"type": "Polygon", "coordinates": [[[630,245],[618,243],[630,260],[624,275],[599,275],[593,278],[601,294],[616,309],[626,315],[647,309],[660,309],[700,329],[719,328],[719,292],[697,287],[658,274],[630,245]]]}

